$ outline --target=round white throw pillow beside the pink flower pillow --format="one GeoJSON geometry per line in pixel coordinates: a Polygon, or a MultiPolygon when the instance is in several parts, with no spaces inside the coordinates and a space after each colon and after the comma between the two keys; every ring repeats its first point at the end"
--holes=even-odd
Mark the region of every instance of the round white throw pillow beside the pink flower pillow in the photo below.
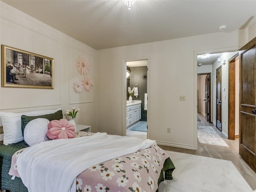
{"type": "Polygon", "coordinates": [[[24,129],[25,142],[29,146],[32,146],[38,143],[48,141],[49,139],[46,133],[48,131],[49,122],[50,121],[45,118],[37,118],[28,122],[24,129]]]}

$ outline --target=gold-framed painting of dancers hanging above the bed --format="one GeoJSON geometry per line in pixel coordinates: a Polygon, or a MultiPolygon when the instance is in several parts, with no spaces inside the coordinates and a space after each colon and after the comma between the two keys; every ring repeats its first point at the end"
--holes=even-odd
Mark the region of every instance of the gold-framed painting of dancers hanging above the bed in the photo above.
{"type": "Polygon", "coordinates": [[[2,87],[53,89],[53,58],[2,45],[2,87]]]}

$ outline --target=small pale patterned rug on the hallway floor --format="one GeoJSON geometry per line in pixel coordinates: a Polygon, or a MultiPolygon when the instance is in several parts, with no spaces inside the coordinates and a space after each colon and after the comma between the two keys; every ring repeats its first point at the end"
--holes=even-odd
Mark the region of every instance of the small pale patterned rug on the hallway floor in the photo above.
{"type": "Polygon", "coordinates": [[[198,142],[208,145],[228,147],[228,144],[219,136],[211,126],[197,126],[198,142]]]}

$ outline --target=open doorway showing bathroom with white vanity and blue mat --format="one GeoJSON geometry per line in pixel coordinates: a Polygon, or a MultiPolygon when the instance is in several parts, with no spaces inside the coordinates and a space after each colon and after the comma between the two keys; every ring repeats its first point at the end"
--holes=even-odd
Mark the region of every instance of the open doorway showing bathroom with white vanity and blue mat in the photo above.
{"type": "Polygon", "coordinates": [[[148,60],[126,61],[126,136],[147,139],[148,60]]]}

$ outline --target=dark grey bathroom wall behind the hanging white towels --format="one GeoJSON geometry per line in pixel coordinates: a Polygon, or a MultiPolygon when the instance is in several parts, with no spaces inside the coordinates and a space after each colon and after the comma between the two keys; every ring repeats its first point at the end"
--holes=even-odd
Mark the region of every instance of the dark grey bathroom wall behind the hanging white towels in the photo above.
{"type": "MultiPolygon", "coordinates": [[[[130,67],[130,88],[132,89],[136,84],[138,85],[139,96],[136,98],[132,96],[132,100],[141,100],[141,119],[147,120],[147,111],[144,110],[144,94],[147,93],[147,79],[142,78],[147,74],[147,66],[130,67]]],[[[127,85],[128,90],[128,85],[127,85]]]]}

